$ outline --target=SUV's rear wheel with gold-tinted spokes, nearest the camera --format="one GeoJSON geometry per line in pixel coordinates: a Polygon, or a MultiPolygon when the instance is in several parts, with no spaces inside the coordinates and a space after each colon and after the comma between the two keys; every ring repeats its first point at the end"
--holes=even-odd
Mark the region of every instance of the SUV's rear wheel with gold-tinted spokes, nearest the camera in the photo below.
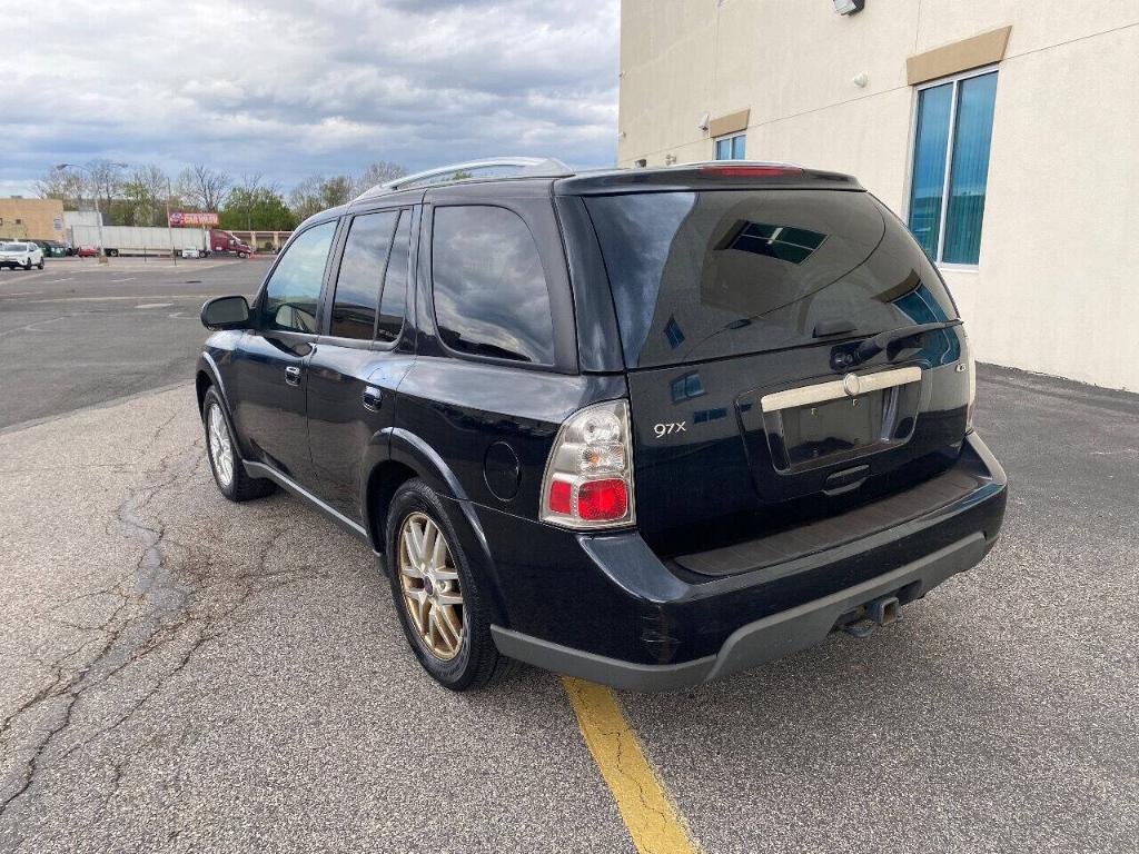
{"type": "Polygon", "coordinates": [[[385,555],[408,644],[436,682],[467,691],[513,670],[491,638],[482,592],[443,503],[418,478],[392,498],[385,555]]]}

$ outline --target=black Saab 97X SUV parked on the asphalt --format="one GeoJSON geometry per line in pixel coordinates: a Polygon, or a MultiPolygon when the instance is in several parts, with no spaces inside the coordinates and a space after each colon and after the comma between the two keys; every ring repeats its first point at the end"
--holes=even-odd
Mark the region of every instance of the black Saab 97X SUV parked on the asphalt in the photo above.
{"type": "Polygon", "coordinates": [[[854,179],[495,165],[318,214],[252,306],[202,310],[219,487],[366,539],[432,676],[690,685],[992,548],[957,309],[854,179]]]}

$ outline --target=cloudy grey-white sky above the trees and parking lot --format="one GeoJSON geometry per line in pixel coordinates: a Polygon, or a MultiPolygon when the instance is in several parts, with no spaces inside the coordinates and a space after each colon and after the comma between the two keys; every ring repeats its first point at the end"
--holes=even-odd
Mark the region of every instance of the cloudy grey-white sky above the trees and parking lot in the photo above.
{"type": "Polygon", "coordinates": [[[616,153],[618,0],[56,0],[5,14],[0,195],[51,164],[289,189],[372,161],[616,153]]]}

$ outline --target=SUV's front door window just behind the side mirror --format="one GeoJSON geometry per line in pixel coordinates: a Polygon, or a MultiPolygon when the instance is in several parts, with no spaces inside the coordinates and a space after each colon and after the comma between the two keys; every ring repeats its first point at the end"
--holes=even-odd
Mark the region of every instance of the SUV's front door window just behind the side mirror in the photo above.
{"type": "Polygon", "coordinates": [[[290,332],[317,331],[317,303],[336,222],[313,225],[300,235],[277,263],[262,303],[261,328],[290,332]]]}

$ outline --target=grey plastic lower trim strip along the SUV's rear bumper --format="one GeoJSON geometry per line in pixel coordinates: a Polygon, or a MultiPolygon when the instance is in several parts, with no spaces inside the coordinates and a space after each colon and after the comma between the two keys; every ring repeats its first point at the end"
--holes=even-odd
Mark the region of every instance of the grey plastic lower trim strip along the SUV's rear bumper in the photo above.
{"type": "Polygon", "coordinates": [[[821,599],[748,623],[714,656],[681,664],[646,665],[584,652],[492,625],[499,651],[510,658],[628,691],[669,691],[710,682],[821,643],[837,619],[879,596],[919,582],[925,596],[957,573],[976,566],[992,547],[980,531],[892,572],[821,599]]]}

